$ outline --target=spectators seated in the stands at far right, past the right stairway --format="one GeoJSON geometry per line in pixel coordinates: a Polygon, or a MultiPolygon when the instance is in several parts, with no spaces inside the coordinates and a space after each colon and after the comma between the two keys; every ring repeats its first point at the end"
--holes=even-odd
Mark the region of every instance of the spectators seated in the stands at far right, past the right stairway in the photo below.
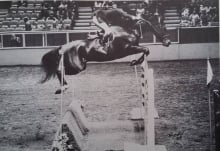
{"type": "Polygon", "coordinates": [[[219,22],[219,12],[215,2],[196,1],[185,3],[181,11],[181,26],[210,26],[219,22]]]}

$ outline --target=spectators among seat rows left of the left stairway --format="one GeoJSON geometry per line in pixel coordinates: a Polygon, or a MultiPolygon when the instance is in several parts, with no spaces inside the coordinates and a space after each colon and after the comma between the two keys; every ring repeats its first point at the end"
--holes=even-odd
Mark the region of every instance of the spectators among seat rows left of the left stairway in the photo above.
{"type": "Polygon", "coordinates": [[[16,1],[2,20],[7,30],[72,29],[77,9],[74,1],[16,1]]]}

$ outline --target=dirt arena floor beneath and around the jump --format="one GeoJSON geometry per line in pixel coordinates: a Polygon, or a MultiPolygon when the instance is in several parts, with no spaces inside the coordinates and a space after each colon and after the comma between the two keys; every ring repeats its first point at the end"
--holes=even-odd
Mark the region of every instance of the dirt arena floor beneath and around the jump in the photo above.
{"type": "MultiPolygon", "coordinates": [[[[211,64],[219,75],[218,60],[211,64]]],[[[149,66],[154,69],[160,116],[155,124],[156,143],[168,151],[209,151],[206,60],[151,62],[149,66]]],[[[39,84],[42,76],[36,66],[0,68],[0,151],[51,149],[61,120],[60,95],[54,94],[59,83],[52,79],[39,84]]],[[[141,105],[140,86],[128,63],[89,64],[86,71],[66,78],[70,88],[64,94],[64,110],[78,98],[90,122],[126,123],[130,110],[141,105]]]]}

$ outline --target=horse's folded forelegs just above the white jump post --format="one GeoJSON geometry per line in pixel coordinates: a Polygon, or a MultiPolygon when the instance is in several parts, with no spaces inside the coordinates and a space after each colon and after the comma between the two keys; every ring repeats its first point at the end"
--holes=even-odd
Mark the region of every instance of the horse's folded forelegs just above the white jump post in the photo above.
{"type": "Polygon", "coordinates": [[[137,60],[133,60],[131,62],[131,66],[141,64],[144,61],[144,56],[148,56],[150,51],[147,47],[142,47],[142,46],[129,46],[128,48],[129,53],[131,54],[137,54],[137,53],[143,53],[143,55],[138,58],[137,60]]]}

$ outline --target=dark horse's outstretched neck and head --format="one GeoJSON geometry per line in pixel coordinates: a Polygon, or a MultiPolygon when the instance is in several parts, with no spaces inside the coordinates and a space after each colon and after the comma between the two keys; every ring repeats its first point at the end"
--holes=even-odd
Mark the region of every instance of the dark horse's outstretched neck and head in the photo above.
{"type": "Polygon", "coordinates": [[[139,19],[135,24],[135,29],[140,37],[144,32],[150,31],[162,42],[163,46],[168,47],[171,44],[167,29],[159,24],[155,17],[139,19]]]}

